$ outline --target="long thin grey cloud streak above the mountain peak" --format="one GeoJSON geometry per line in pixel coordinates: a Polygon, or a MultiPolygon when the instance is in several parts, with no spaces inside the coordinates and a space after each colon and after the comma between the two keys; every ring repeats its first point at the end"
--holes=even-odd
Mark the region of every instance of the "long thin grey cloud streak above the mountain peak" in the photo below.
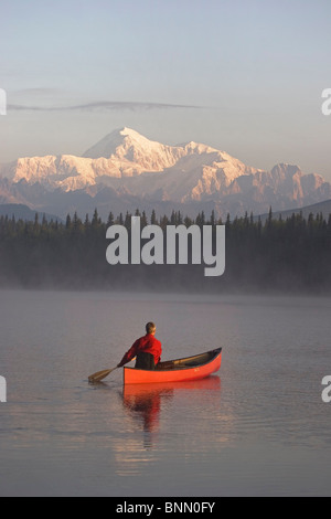
{"type": "Polygon", "coordinates": [[[175,105],[168,103],[139,103],[120,100],[100,100],[71,106],[8,105],[8,112],[98,112],[98,110],[150,110],[150,109],[201,109],[202,106],[175,105]]]}

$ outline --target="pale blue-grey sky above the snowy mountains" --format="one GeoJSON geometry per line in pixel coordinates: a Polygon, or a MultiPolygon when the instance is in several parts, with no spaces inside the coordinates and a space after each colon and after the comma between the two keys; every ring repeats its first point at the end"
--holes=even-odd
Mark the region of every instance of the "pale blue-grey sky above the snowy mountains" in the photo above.
{"type": "Polygon", "coordinates": [[[331,181],[330,0],[0,0],[0,163],[116,128],[331,181]]]}

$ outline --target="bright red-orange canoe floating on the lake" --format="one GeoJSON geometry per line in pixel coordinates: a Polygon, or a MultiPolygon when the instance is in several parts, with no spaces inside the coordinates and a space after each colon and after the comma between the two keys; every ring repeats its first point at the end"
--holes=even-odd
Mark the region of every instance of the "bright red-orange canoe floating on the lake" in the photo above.
{"type": "Polygon", "coordinates": [[[153,371],[125,367],[124,383],[150,384],[204,379],[218,371],[221,363],[222,348],[217,348],[194,357],[160,362],[153,371]]]}

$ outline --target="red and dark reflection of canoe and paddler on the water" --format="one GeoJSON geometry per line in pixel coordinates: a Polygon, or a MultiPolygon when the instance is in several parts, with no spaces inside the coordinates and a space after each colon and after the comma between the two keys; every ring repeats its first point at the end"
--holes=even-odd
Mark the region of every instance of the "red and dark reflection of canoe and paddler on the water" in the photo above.
{"type": "Polygon", "coordinates": [[[168,406],[175,393],[190,393],[185,401],[194,402],[205,395],[205,391],[221,389],[221,379],[211,375],[203,380],[156,384],[128,384],[124,386],[122,403],[130,416],[138,422],[145,433],[145,446],[151,445],[153,433],[159,428],[161,410],[168,406]],[[191,395],[191,391],[195,392],[191,395]]]}

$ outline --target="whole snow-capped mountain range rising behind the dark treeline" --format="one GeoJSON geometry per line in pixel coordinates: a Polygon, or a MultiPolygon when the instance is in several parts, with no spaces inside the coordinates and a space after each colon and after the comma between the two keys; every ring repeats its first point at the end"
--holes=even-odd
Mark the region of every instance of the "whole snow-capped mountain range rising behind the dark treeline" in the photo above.
{"type": "Polygon", "coordinates": [[[224,216],[331,199],[329,182],[319,174],[303,174],[297,166],[263,171],[206,145],[168,146],[130,128],[107,135],[83,157],[20,158],[2,166],[0,173],[7,179],[0,183],[0,202],[17,199],[54,213],[56,200],[60,215],[97,204],[102,213],[113,206],[125,212],[134,204],[158,212],[173,206],[194,215],[214,209],[224,216]]]}

